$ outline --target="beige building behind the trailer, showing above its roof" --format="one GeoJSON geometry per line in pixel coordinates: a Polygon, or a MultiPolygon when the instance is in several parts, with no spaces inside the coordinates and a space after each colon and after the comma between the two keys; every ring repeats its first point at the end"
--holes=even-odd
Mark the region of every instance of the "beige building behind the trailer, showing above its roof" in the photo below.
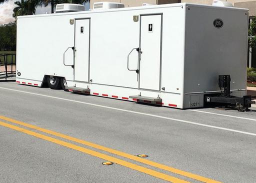
{"type": "MultiPolygon", "coordinates": [[[[198,4],[212,4],[212,0],[90,0],[90,8],[92,9],[94,2],[100,1],[112,1],[120,2],[125,7],[141,6],[142,3],[149,4],[169,4],[178,2],[190,2],[198,4]]],[[[241,7],[249,9],[249,21],[252,17],[256,16],[256,0],[227,0],[231,2],[234,7],[241,7]]],[[[256,67],[256,48],[248,48],[248,60],[247,65],[249,67],[256,67]]]]}

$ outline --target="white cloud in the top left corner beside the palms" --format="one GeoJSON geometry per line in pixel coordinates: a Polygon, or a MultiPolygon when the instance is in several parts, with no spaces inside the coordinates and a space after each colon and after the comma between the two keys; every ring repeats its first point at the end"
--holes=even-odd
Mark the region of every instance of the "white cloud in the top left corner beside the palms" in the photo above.
{"type": "Polygon", "coordinates": [[[0,4],[0,24],[6,24],[14,21],[15,18],[12,17],[13,8],[16,6],[13,0],[0,4]]]}

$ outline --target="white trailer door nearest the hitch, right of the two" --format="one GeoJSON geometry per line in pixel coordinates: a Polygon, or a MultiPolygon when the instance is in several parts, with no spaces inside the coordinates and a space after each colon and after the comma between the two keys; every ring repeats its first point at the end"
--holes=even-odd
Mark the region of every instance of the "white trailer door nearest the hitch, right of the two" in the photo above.
{"type": "Polygon", "coordinates": [[[162,14],[140,16],[139,88],[160,90],[162,14]]]}

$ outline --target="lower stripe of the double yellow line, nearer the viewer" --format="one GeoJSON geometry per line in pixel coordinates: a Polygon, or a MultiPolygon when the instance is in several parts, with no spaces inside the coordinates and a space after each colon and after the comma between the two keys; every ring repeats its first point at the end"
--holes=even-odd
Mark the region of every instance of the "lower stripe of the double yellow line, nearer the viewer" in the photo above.
{"type": "Polygon", "coordinates": [[[59,139],[56,139],[56,138],[52,138],[50,136],[46,136],[46,135],[43,135],[43,134],[40,134],[40,133],[36,133],[34,131],[30,131],[30,130],[27,130],[25,128],[14,126],[12,124],[8,124],[8,123],[0,121],[0,125],[11,128],[11,129],[14,129],[14,130],[17,130],[17,131],[20,131],[20,132],[23,132],[23,133],[26,133],[26,134],[29,134],[29,135],[32,135],[32,136],[35,136],[37,138],[41,138],[41,139],[44,139],[44,140],[47,140],[47,141],[50,141],[50,142],[68,147],[68,148],[78,150],[80,152],[84,152],[84,153],[92,155],[92,156],[99,157],[101,159],[105,159],[107,161],[115,162],[116,164],[120,164],[122,166],[131,168],[131,169],[134,169],[134,170],[137,170],[137,171],[140,171],[140,172],[152,175],[152,176],[155,176],[157,178],[161,178],[163,180],[167,180],[167,181],[170,181],[170,182],[173,182],[173,183],[189,183],[188,181],[185,181],[185,180],[182,180],[182,179],[179,179],[179,178],[176,178],[176,177],[173,177],[173,176],[170,176],[170,175],[167,175],[167,174],[164,174],[164,173],[161,173],[161,172],[158,172],[158,171],[155,171],[155,170],[143,167],[143,166],[139,166],[137,164],[133,164],[133,163],[124,161],[122,159],[118,159],[118,158],[115,158],[115,157],[112,157],[112,156],[109,156],[109,155],[106,155],[106,154],[103,154],[103,153],[100,153],[100,152],[97,152],[97,151],[94,151],[94,150],[90,150],[90,149],[87,149],[87,148],[84,148],[84,147],[81,147],[81,146],[78,146],[78,145],[74,145],[72,143],[68,143],[68,142],[65,142],[65,141],[62,141],[62,140],[59,140],[59,139]]]}

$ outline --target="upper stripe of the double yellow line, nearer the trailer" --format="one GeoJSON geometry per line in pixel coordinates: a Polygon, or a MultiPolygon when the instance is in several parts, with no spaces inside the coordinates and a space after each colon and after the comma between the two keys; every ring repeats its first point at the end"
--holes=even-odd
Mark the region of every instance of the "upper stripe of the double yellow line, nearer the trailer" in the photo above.
{"type": "Polygon", "coordinates": [[[16,124],[19,124],[19,125],[23,125],[23,126],[26,126],[26,127],[32,128],[32,129],[36,129],[38,131],[42,131],[42,132],[45,132],[45,133],[48,133],[48,134],[52,134],[52,135],[55,135],[55,136],[58,136],[58,137],[61,137],[61,138],[67,139],[67,140],[77,142],[77,143],[81,143],[81,144],[84,144],[84,145],[87,145],[87,146],[90,146],[90,147],[93,147],[93,148],[104,150],[106,152],[110,152],[110,153],[113,153],[113,154],[116,154],[116,155],[119,155],[119,156],[123,156],[123,157],[129,158],[129,159],[132,159],[132,160],[135,160],[135,161],[138,161],[138,162],[150,165],[150,166],[154,166],[154,167],[166,170],[166,171],[170,171],[170,172],[173,172],[173,173],[176,173],[176,174],[180,174],[182,176],[186,176],[186,177],[189,177],[189,178],[192,178],[192,179],[195,179],[195,180],[199,180],[199,181],[206,182],[206,183],[220,183],[219,181],[212,180],[210,178],[206,178],[206,177],[196,175],[196,174],[193,174],[193,173],[190,173],[190,172],[187,172],[187,171],[176,169],[176,168],[164,165],[164,164],[160,164],[160,163],[157,163],[157,162],[154,162],[154,161],[150,161],[148,159],[143,159],[143,158],[140,158],[140,157],[135,156],[135,155],[131,155],[131,154],[121,152],[121,151],[118,151],[118,150],[115,150],[115,149],[111,149],[111,148],[108,148],[108,147],[105,147],[105,146],[102,146],[102,145],[98,145],[98,144],[91,143],[91,142],[88,142],[88,141],[85,141],[85,140],[81,140],[81,139],[78,139],[78,138],[75,138],[75,137],[71,137],[71,136],[68,136],[68,135],[65,135],[65,134],[62,134],[62,133],[59,133],[59,132],[44,129],[44,128],[41,128],[41,127],[38,127],[38,126],[35,126],[35,125],[32,125],[32,124],[28,124],[28,123],[25,123],[25,122],[15,120],[15,119],[11,119],[9,117],[0,116],[0,119],[7,120],[9,122],[13,122],[13,123],[16,123],[16,124]]]}

